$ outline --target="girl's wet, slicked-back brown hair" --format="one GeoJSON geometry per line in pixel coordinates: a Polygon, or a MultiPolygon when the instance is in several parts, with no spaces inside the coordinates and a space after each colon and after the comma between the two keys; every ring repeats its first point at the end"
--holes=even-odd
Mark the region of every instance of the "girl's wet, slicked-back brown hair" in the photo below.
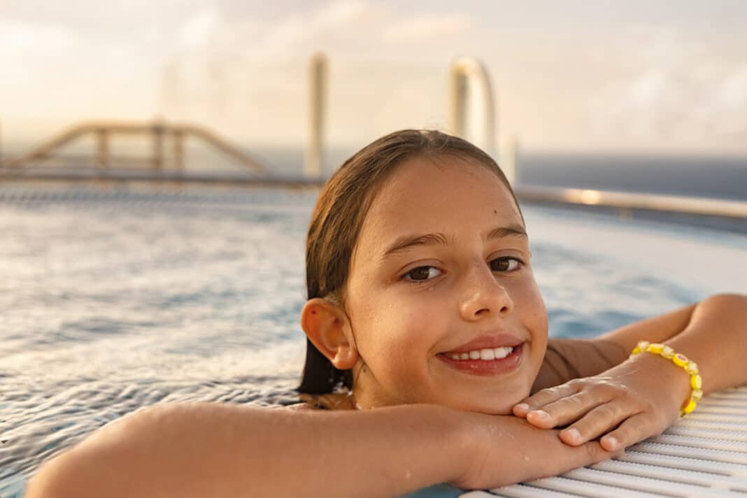
{"type": "MultiPolygon", "coordinates": [[[[353,250],[368,208],[385,179],[409,158],[448,156],[473,159],[486,166],[506,185],[518,208],[506,175],[478,147],[440,131],[394,131],[345,161],[321,190],[306,238],[308,299],[322,297],[344,306],[344,289],[353,250]]],[[[342,386],[352,389],[351,371],[335,368],[307,338],[306,364],[299,391],[323,394],[342,386]]]]}

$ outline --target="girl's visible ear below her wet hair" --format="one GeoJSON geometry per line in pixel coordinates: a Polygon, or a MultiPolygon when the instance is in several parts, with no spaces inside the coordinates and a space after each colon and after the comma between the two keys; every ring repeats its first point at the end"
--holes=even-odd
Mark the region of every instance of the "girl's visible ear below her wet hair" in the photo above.
{"type": "Polygon", "coordinates": [[[338,370],[349,370],[358,361],[347,314],[328,299],[309,299],[301,310],[301,328],[338,370]]]}

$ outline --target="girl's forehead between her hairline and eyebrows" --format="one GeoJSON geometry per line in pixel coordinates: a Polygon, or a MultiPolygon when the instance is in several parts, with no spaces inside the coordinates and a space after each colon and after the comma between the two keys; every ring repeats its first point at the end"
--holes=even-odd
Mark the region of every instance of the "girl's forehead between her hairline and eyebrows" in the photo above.
{"type": "Polygon", "coordinates": [[[469,158],[412,158],[397,166],[373,198],[359,249],[407,234],[524,225],[495,172],[469,158]]]}

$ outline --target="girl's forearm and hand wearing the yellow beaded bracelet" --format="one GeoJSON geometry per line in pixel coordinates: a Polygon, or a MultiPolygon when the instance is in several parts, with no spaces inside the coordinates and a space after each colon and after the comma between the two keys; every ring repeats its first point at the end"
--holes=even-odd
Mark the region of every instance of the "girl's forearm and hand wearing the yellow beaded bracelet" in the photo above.
{"type": "MultiPolygon", "coordinates": [[[[598,337],[632,351],[639,340],[665,343],[698,363],[704,393],[747,384],[747,296],[721,294],[670,314],[598,337]]],[[[690,393],[689,376],[658,355],[643,353],[586,379],[541,390],[514,407],[538,427],[572,423],[568,444],[604,435],[611,450],[658,434],[676,420],[690,393]],[[615,429],[619,426],[617,429],[615,429]]]]}

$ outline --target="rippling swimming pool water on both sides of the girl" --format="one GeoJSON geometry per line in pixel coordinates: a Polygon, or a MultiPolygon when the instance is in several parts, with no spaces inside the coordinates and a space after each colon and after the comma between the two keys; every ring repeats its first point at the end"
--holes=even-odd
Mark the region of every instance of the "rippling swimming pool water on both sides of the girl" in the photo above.
{"type": "MultiPolygon", "coordinates": [[[[135,409],[294,401],[316,193],[0,187],[0,496],[135,409]]],[[[524,206],[555,336],[747,293],[747,235],[524,206]]]]}

